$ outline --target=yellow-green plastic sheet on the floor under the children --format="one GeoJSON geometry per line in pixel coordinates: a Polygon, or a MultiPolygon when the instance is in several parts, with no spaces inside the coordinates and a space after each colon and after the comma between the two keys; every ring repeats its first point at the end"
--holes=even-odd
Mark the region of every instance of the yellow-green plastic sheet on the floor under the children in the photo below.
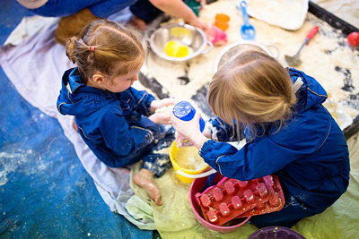
{"type": "MultiPolygon", "coordinates": [[[[349,141],[351,173],[348,190],[323,213],[302,219],[292,229],[311,238],[357,238],[359,228],[359,137],[349,141]]],[[[245,224],[234,232],[221,234],[201,226],[188,200],[189,184],[183,184],[171,169],[156,183],[161,188],[163,206],[153,203],[153,219],[162,238],[247,238],[258,228],[245,224]]],[[[136,193],[138,191],[135,190],[136,193]]]]}

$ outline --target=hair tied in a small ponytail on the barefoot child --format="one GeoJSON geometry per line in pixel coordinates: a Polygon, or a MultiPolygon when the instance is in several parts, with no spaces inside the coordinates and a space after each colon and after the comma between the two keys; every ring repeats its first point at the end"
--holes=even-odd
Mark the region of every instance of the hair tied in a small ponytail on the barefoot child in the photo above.
{"type": "Polygon", "coordinates": [[[113,79],[144,63],[144,47],[135,31],[108,20],[91,21],[78,36],[68,38],[66,55],[77,65],[85,81],[96,70],[113,79]],[[118,64],[121,67],[116,72],[118,64]]]}

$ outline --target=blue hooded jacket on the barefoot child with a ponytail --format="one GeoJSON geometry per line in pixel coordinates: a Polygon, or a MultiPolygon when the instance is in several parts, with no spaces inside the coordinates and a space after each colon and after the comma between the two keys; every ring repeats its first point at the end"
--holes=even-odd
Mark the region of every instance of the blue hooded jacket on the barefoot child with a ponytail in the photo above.
{"type": "Polygon", "coordinates": [[[112,93],[86,86],[73,68],[62,78],[57,109],[74,115],[83,141],[97,158],[107,166],[123,167],[140,160],[153,147],[156,133],[162,132],[147,117],[153,99],[133,88],[112,93]]]}

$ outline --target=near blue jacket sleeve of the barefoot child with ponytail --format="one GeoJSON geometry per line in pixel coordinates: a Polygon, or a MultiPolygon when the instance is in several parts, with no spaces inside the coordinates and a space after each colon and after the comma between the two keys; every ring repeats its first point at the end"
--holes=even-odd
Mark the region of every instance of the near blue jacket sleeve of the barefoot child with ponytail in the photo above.
{"type": "Polygon", "coordinates": [[[118,112],[104,115],[101,133],[106,147],[118,156],[127,156],[144,149],[153,142],[153,132],[139,126],[129,126],[125,117],[118,112]]]}

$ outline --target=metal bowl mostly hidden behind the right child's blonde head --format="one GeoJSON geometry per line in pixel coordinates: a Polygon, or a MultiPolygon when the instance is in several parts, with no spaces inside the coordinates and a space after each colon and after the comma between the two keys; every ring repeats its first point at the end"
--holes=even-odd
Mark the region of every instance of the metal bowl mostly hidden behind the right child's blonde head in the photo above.
{"type": "Polygon", "coordinates": [[[266,46],[258,44],[256,42],[248,41],[248,40],[241,40],[237,41],[227,47],[225,47],[222,52],[217,56],[215,59],[215,73],[217,70],[225,64],[229,59],[231,59],[234,55],[239,54],[242,51],[247,50],[254,50],[258,52],[265,53],[267,55],[270,55],[272,57],[277,58],[279,56],[279,49],[273,45],[268,44],[266,46]],[[273,54],[268,47],[274,47],[276,49],[276,54],[273,54]]]}

